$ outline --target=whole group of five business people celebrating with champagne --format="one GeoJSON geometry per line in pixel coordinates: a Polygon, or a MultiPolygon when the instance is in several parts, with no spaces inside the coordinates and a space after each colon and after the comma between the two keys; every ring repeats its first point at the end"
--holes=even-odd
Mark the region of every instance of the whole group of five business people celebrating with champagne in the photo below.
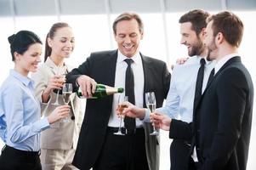
{"type": "Polygon", "coordinates": [[[174,139],[173,170],[245,169],[253,83],[236,54],[242,21],[230,12],[209,17],[196,9],[179,23],[181,43],[191,58],[174,66],[171,82],[164,62],[139,52],[144,26],[138,14],[123,13],[114,21],[117,50],[92,53],[73,70],[64,62],[74,48],[71,27],[65,23],[48,32],[45,63],[38,69],[42,42],[37,35],[20,31],[9,37],[14,70],[0,89],[0,134],[6,144],[1,169],[42,169],[42,132],[43,169],[157,170],[159,137],[149,135],[152,124],[169,130],[174,139]],[[29,72],[34,72],[33,81],[29,72]],[[114,134],[120,121],[116,95],[88,99],[84,118],[75,94],[69,105],[61,99],[61,106],[50,105],[57,99],[54,89],[62,88],[60,80],[71,82],[74,91],[79,86],[87,98],[97,83],[126,87],[126,135],[114,134]],[[152,91],[159,109],[150,120],[143,108],[144,94],[152,91]],[[175,119],[178,115],[181,120],[175,119]],[[71,121],[60,122],[63,117],[71,121]]]}

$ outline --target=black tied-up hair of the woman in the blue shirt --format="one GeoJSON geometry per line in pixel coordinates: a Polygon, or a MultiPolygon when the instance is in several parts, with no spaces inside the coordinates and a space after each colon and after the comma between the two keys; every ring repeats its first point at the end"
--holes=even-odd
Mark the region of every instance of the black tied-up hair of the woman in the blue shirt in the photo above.
{"type": "Polygon", "coordinates": [[[8,37],[10,43],[10,50],[12,54],[12,60],[14,61],[14,52],[18,54],[24,54],[26,50],[34,43],[42,43],[40,38],[32,31],[19,31],[16,34],[8,37]]]}

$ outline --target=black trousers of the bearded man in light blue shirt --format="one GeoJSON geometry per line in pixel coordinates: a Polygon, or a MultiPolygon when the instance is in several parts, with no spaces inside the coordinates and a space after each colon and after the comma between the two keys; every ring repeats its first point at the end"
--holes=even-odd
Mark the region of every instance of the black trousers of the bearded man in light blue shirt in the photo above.
{"type": "Polygon", "coordinates": [[[171,170],[190,170],[190,149],[185,140],[173,140],[170,147],[171,170]]]}

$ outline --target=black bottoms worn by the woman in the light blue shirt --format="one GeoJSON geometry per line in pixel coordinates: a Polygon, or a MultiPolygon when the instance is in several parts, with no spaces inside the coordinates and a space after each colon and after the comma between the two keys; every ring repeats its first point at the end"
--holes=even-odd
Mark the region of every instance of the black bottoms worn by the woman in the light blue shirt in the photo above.
{"type": "Polygon", "coordinates": [[[39,153],[5,145],[0,156],[1,170],[42,170],[39,153]]]}

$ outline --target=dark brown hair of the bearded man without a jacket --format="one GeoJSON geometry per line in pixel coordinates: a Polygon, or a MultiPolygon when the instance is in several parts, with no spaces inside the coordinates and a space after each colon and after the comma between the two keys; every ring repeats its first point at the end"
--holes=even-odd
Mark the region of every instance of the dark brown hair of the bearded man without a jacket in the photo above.
{"type": "Polygon", "coordinates": [[[191,29],[196,31],[196,35],[198,36],[202,31],[202,28],[207,26],[207,18],[209,15],[208,12],[202,9],[193,9],[179,18],[179,24],[191,22],[191,29]]]}

